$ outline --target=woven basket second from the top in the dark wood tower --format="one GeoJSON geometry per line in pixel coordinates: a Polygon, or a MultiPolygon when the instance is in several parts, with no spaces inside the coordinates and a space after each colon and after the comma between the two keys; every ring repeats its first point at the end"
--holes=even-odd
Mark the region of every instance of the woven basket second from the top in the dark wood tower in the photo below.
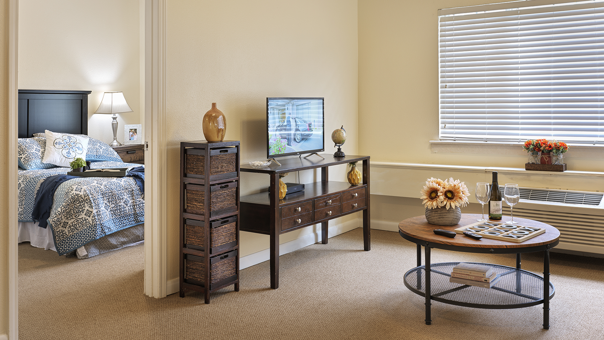
{"type": "MultiPolygon", "coordinates": [[[[233,185],[236,185],[236,183],[233,185]]],[[[237,188],[220,189],[221,186],[226,185],[217,185],[217,190],[210,191],[210,211],[222,210],[237,205],[237,188]]],[[[205,210],[205,192],[203,188],[202,185],[187,185],[185,209],[205,210]]]]}

